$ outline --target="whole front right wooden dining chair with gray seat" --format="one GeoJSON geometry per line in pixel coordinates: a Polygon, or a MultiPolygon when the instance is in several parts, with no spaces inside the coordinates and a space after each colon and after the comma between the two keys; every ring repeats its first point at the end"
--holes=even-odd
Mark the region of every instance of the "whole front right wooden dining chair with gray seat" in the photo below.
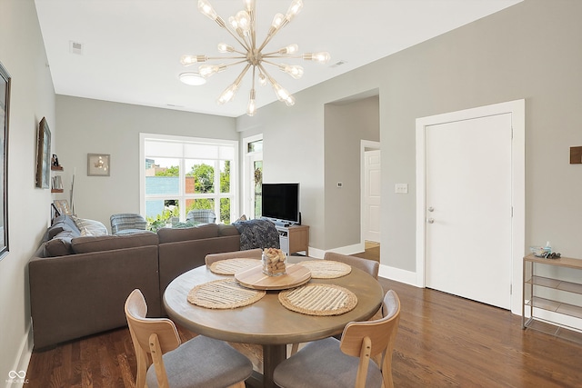
{"type": "Polygon", "coordinates": [[[277,365],[273,379],[281,388],[393,388],[392,352],[400,320],[400,301],[392,290],[382,303],[381,319],[346,324],[341,341],[334,337],[307,343],[277,365]],[[382,363],[370,363],[381,354],[382,363]]]}

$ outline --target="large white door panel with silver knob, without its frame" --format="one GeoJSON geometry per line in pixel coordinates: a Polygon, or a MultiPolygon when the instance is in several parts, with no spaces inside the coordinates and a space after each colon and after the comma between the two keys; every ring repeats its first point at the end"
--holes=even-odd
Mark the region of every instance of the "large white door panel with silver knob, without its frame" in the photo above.
{"type": "Polygon", "coordinates": [[[426,126],[426,286],[511,307],[511,114],[426,126]]]}

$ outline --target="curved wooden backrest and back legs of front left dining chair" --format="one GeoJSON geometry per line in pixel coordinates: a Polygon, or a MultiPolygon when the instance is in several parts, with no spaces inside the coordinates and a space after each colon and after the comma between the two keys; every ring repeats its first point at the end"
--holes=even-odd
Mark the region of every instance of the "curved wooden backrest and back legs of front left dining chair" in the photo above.
{"type": "Polygon", "coordinates": [[[146,385],[146,372],[149,357],[156,368],[156,377],[160,386],[167,386],[167,375],[162,354],[176,349],[180,345],[180,336],[176,325],[166,318],[146,318],[147,304],[144,294],[138,289],[132,291],[125,301],[125,317],[129,326],[137,358],[136,387],[146,385]]]}

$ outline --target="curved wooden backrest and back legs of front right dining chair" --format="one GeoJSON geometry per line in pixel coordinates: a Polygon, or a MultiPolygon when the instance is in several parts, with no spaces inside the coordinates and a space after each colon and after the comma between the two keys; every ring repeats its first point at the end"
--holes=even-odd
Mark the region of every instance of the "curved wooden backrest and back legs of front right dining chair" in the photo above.
{"type": "Polygon", "coordinates": [[[400,321],[400,300],[389,290],[382,303],[383,317],[376,321],[350,322],[346,324],[339,347],[347,355],[359,357],[356,388],[366,384],[370,357],[382,353],[382,376],[386,388],[393,387],[392,352],[400,321]]]}

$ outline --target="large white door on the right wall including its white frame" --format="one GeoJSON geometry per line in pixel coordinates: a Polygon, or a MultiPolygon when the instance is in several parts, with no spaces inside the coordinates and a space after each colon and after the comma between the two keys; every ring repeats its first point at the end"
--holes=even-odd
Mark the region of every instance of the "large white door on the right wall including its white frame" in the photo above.
{"type": "Polygon", "coordinates": [[[521,100],[416,121],[422,286],[520,311],[523,115],[521,100]]]}

